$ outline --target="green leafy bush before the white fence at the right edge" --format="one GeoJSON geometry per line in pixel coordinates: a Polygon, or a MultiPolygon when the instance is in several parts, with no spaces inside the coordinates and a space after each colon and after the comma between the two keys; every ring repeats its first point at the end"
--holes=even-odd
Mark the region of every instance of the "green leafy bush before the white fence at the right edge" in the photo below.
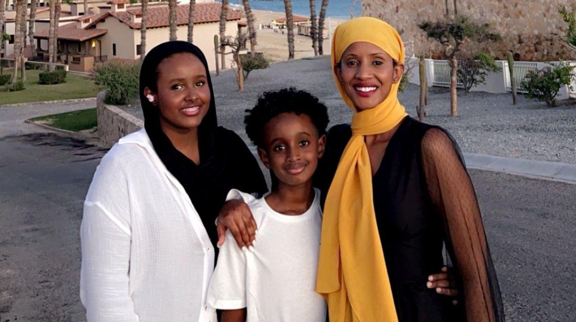
{"type": "Polygon", "coordinates": [[[562,86],[570,86],[574,77],[573,69],[573,66],[560,63],[550,64],[550,67],[544,67],[539,71],[530,71],[522,81],[522,88],[528,90],[526,96],[529,99],[537,99],[546,102],[548,106],[556,106],[556,95],[562,86]]]}

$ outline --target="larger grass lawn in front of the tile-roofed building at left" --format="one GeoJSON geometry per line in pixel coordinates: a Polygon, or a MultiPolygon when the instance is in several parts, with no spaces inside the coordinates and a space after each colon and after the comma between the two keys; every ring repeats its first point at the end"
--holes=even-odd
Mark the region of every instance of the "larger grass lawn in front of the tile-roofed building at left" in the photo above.
{"type": "MultiPolygon", "coordinates": [[[[4,71],[7,73],[8,71],[4,71]]],[[[84,76],[67,74],[66,82],[55,85],[39,85],[40,70],[26,70],[26,89],[8,92],[6,86],[0,86],[0,105],[37,101],[53,101],[96,97],[98,88],[92,79],[84,76]]]]}

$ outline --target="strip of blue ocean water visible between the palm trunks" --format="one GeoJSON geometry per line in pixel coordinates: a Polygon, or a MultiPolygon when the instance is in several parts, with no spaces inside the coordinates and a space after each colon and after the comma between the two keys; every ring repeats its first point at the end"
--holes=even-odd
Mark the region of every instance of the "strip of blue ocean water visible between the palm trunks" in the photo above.
{"type": "MultiPolygon", "coordinates": [[[[350,8],[354,0],[329,0],[326,9],[326,17],[350,18],[350,8]]],[[[230,4],[239,5],[241,0],[230,0],[230,4]]],[[[308,0],[292,0],[292,12],[298,16],[310,16],[310,2],[308,0]]],[[[354,6],[354,17],[361,14],[360,1],[354,6]]],[[[316,0],[316,14],[320,14],[321,0],[316,0]]],[[[251,0],[250,6],[257,10],[270,10],[284,12],[284,1],[282,0],[251,0]]]]}

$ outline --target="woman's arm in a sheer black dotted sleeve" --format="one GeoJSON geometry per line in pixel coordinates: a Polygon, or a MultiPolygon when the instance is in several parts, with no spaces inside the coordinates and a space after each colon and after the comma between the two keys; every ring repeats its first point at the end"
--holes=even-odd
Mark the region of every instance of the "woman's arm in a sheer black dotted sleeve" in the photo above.
{"type": "Polygon", "coordinates": [[[467,321],[501,321],[501,298],[472,181],[452,139],[433,128],[422,139],[429,193],[446,229],[467,321]]]}

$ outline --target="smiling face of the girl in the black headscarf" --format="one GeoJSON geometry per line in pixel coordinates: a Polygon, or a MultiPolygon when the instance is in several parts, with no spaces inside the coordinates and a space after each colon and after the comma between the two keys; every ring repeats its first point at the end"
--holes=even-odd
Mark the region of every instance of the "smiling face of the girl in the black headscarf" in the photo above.
{"type": "Polygon", "coordinates": [[[202,61],[189,52],[174,54],[158,65],[153,104],[160,109],[163,130],[186,132],[197,128],[210,107],[210,88],[202,61]]]}

